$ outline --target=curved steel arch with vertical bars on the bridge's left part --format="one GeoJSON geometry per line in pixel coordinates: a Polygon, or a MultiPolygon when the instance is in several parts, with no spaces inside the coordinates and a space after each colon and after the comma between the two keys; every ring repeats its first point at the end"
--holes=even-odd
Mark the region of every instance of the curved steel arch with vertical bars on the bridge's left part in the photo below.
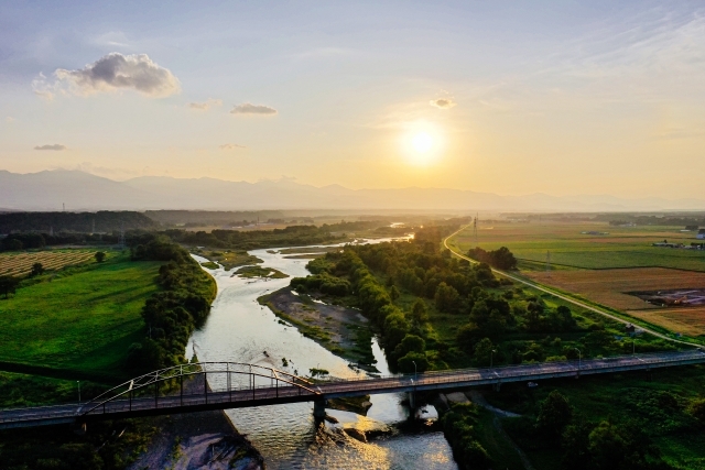
{"type": "MultiPolygon", "coordinates": [[[[248,364],[243,362],[194,362],[187,364],[173,365],[166,369],[160,369],[158,371],[149,372],[144,375],[131,379],[120,385],[113,386],[107,392],[101,393],[95,398],[82,404],[78,415],[80,417],[87,417],[88,415],[99,415],[106,413],[108,404],[117,401],[123,401],[129,403],[129,409],[132,411],[133,398],[144,398],[153,396],[154,408],[159,407],[160,398],[173,398],[180,396],[183,404],[184,398],[184,379],[196,379],[198,375],[203,375],[203,392],[200,395],[205,396],[205,403],[208,403],[208,376],[214,378],[218,375],[225,375],[227,382],[227,390],[232,394],[234,392],[242,393],[243,391],[252,391],[252,397],[258,389],[272,389],[276,391],[279,395],[279,387],[297,387],[299,395],[308,394],[312,397],[322,395],[321,391],[314,390],[314,383],[303,379],[299,375],[281,371],[274,368],[268,368],[264,365],[248,364]],[[248,385],[241,386],[241,383],[236,383],[234,386],[232,378],[248,378],[248,385]],[[260,383],[269,381],[268,385],[258,385],[258,378],[260,383]],[[174,386],[178,382],[178,395],[174,395],[174,386]],[[280,385],[281,384],[281,385],[280,385]],[[162,386],[169,385],[169,386],[162,386]],[[153,394],[151,389],[153,389],[153,394]],[[160,392],[172,392],[171,395],[163,394],[160,396],[160,392]],[[149,395],[150,393],[151,395],[149,395]]],[[[218,390],[223,392],[223,390],[218,390]]],[[[214,393],[213,391],[210,393],[214,393]]],[[[193,396],[191,393],[187,396],[193,396]]],[[[231,396],[231,395],[230,395],[231,396]]]]}

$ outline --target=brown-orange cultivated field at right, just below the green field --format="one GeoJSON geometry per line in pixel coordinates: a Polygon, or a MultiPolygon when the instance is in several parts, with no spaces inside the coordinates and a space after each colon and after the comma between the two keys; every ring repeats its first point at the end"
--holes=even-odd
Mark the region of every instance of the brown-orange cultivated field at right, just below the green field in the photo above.
{"type": "Polygon", "coordinates": [[[582,295],[619,310],[659,308],[636,295],[627,294],[629,292],[705,287],[705,273],[663,267],[574,270],[549,273],[536,271],[524,274],[541,284],[582,295]]]}

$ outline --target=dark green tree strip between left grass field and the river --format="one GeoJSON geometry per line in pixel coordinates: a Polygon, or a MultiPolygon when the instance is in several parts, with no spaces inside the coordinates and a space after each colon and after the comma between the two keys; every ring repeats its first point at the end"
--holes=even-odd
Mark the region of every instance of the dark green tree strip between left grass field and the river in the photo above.
{"type": "Polygon", "coordinates": [[[167,263],[159,270],[162,289],[152,294],[142,308],[148,337],[130,347],[128,367],[154,370],[185,361],[188,338],[208,316],[216,286],[180,245],[154,236],[144,236],[140,241],[130,248],[134,260],[167,263]]]}

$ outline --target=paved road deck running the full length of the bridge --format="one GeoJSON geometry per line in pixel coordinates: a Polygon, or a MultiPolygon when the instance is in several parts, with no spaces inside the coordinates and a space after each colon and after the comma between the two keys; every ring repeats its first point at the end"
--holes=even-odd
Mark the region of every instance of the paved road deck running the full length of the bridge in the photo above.
{"type": "MultiPolygon", "coordinates": [[[[426,372],[419,375],[394,375],[359,380],[336,380],[322,383],[314,392],[297,386],[267,386],[258,389],[215,390],[207,394],[175,396],[143,396],[116,400],[90,409],[94,404],[70,404],[22,409],[0,411],[0,429],[62,423],[90,422],[135,416],[188,413],[265,406],[284,403],[356,396],[378,393],[464,389],[477,385],[529,382],[554,378],[614,373],[634,370],[705,363],[705,351],[668,352],[629,356],[586,361],[545,362],[489,369],[462,369],[426,372]],[[85,413],[89,412],[87,415],[85,413]]],[[[213,372],[209,372],[209,376],[213,372]]]]}

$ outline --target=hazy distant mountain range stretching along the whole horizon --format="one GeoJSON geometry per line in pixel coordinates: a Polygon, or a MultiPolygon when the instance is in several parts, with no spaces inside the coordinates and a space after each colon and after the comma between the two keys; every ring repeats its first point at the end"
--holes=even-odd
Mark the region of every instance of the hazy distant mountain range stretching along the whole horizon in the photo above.
{"type": "Polygon", "coordinates": [[[259,183],[215,178],[142,176],[124,182],[79,171],[18,174],[0,171],[0,210],[443,210],[474,211],[625,211],[705,210],[705,200],[620,198],[608,195],[499,196],[444,188],[348,189],[315,187],[292,181],[259,183]]]}

